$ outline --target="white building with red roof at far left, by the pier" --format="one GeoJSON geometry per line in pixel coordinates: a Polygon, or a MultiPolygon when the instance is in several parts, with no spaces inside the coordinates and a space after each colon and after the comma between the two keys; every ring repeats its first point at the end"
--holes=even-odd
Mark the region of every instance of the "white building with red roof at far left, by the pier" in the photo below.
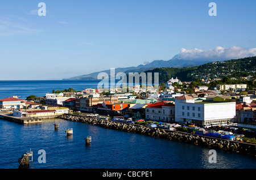
{"type": "Polygon", "coordinates": [[[22,109],[26,107],[27,100],[17,98],[17,96],[7,97],[0,100],[0,109],[22,109]]]}

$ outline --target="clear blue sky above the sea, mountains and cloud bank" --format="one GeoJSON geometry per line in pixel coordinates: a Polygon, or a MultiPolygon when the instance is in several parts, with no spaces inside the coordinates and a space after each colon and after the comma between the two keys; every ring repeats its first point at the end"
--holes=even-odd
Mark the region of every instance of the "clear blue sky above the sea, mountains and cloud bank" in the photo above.
{"type": "Polygon", "coordinates": [[[0,80],[63,79],[168,60],[181,48],[256,48],[256,2],[0,1],[0,80]],[[39,2],[46,16],[39,16],[39,2]],[[209,16],[210,2],[217,16],[209,16]]]}

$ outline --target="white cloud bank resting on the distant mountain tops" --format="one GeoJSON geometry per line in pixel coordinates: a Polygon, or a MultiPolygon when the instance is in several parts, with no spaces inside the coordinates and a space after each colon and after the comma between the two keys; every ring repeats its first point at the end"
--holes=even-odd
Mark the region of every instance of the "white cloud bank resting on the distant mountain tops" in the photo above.
{"type": "Polygon", "coordinates": [[[187,60],[222,61],[245,58],[249,56],[256,56],[256,48],[246,49],[238,46],[222,48],[221,46],[216,46],[216,48],[210,50],[202,50],[197,48],[187,50],[185,48],[181,48],[180,53],[175,55],[174,58],[187,60]]]}

